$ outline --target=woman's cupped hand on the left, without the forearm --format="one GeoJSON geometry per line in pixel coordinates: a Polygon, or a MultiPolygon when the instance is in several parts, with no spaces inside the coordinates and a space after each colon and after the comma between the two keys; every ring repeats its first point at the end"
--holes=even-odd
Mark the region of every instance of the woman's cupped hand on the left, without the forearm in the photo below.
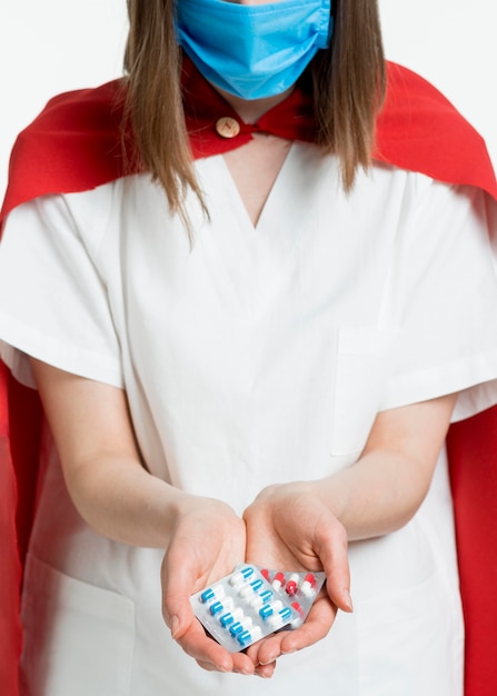
{"type": "Polygon", "coordinates": [[[185,494],[161,569],[162,614],[172,637],[208,670],[254,674],[245,653],[231,654],[209,637],[190,596],[229,575],[246,556],[245,523],[225,503],[185,494]]]}

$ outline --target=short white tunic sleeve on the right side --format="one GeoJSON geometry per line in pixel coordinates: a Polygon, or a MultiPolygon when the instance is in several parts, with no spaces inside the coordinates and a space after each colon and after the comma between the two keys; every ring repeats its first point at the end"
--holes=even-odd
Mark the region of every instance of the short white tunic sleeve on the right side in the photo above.
{"type": "Polygon", "coordinates": [[[401,331],[381,409],[459,391],[458,420],[497,401],[494,207],[470,187],[431,181],[423,193],[392,264],[401,331]]]}

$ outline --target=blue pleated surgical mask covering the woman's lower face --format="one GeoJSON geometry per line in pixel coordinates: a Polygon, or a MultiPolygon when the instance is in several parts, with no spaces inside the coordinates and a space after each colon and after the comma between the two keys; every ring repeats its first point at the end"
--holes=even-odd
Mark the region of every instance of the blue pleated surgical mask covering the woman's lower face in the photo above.
{"type": "Polygon", "coordinates": [[[241,99],[274,97],[329,46],[330,9],[331,0],[177,0],[178,42],[217,87],[241,99]]]}

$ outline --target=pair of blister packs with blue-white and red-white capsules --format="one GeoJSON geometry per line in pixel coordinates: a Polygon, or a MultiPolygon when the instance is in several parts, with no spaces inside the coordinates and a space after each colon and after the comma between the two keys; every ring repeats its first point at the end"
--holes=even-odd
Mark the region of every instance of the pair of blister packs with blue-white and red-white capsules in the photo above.
{"type": "Polygon", "coordinates": [[[325,580],[324,573],[282,573],[240,564],[190,600],[212,638],[237,653],[281,628],[298,628],[325,580]]]}

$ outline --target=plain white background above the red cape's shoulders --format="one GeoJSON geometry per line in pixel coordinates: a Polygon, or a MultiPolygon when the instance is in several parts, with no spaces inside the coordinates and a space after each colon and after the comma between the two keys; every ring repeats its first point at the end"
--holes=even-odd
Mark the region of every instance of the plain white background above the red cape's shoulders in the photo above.
{"type": "MultiPolygon", "coordinates": [[[[445,92],[497,163],[497,2],[379,3],[387,57],[445,92]]],[[[0,0],[0,193],[17,132],[51,96],[118,77],[126,31],[126,0],[0,0]]]]}

